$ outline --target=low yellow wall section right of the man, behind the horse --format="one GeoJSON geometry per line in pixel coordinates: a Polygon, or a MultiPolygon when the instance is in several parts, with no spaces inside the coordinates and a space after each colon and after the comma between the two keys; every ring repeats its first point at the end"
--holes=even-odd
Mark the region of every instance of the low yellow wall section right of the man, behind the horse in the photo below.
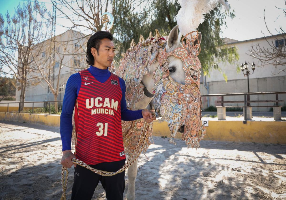
{"type": "MultiPolygon", "coordinates": [[[[167,122],[153,123],[152,135],[170,137],[167,122]]],[[[208,121],[204,140],[286,144],[286,121],[208,121]]]]}

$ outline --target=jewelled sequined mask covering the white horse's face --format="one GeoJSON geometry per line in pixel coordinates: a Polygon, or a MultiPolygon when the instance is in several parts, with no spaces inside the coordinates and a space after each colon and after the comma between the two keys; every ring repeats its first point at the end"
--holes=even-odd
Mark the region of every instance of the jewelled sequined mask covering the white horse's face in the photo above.
{"type": "MultiPolygon", "coordinates": [[[[193,32],[192,32],[193,33],[193,32]]],[[[187,35],[192,35],[188,33],[187,35]]],[[[186,35],[186,36],[187,36],[186,35]]],[[[197,34],[198,35],[198,32],[197,34]]],[[[184,126],[182,140],[189,147],[200,147],[200,140],[204,138],[206,129],[201,125],[202,101],[200,97],[200,68],[198,59],[199,45],[192,45],[195,37],[182,39],[183,47],[178,47],[166,53],[166,49],[158,50],[157,60],[163,72],[161,82],[156,87],[156,95],[153,99],[156,116],[161,116],[160,121],[168,122],[171,131],[170,143],[175,143],[174,137],[178,129],[184,126]],[[186,39],[186,43],[183,41],[186,39]],[[185,85],[175,82],[169,77],[168,56],[180,58],[184,65],[185,85]]],[[[155,73],[156,74],[156,73],[155,73]]]]}

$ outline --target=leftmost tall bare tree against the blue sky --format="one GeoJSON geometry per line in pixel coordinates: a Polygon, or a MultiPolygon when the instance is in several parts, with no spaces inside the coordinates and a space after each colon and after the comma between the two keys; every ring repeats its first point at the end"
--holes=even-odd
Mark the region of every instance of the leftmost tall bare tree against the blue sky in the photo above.
{"type": "MultiPolygon", "coordinates": [[[[44,19],[47,13],[45,7],[37,1],[20,4],[15,8],[15,14],[11,18],[6,13],[6,24],[3,15],[0,14],[0,65],[7,67],[17,79],[17,89],[21,90],[20,101],[25,100],[27,85],[39,82],[35,73],[36,68],[31,65],[31,46],[43,41],[47,36],[49,23],[44,19]]],[[[41,57],[43,46],[34,57],[41,57]]],[[[23,111],[24,103],[20,104],[23,111]]]]}

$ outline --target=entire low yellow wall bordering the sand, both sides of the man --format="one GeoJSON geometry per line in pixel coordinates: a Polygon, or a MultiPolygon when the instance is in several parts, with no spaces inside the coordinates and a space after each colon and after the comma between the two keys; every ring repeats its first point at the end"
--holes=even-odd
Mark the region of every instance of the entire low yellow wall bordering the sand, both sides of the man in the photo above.
{"type": "MultiPolygon", "coordinates": [[[[60,115],[4,113],[0,120],[25,121],[59,127],[60,115]]],[[[153,136],[170,137],[166,122],[153,122],[153,136]]],[[[177,133],[176,138],[181,138],[177,133]]],[[[208,121],[204,140],[286,144],[286,121],[208,121]]]]}

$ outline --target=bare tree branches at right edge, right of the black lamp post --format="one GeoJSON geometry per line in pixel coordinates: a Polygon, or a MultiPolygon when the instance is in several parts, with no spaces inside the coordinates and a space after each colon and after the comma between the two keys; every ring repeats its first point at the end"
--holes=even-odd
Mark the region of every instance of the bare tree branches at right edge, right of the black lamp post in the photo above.
{"type": "MultiPolygon", "coordinates": [[[[286,20],[286,0],[285,8],[277,8],[282,10],[283,15],[286,20]]],[[[265,9],[264,9],[264,23],[267,28],[267,31],[272,36],[271,39],[269,37],[264,37],[267,41],[269,47],[263,47],[261,44],[257,43],[256,45],[251,45],[250,55],[256,59],[258,59],[258,66],[265,65],[273,65],[277,69],[278,66],[283,66],[283,68],[279,69],[279,74],[281,72],[286,72],[286,33],[283,27],[279,26],[278,29],[275,29],[278,34],[273,35],[269,30],[266,20],[265,20],[265,9]],[[273,39],[274,38],[274,39],[273,39]]],[[[273,73],[273,72],[272,72],[273,73]]],[[[274,74],[274,73],[273,73],[274,74]]]]}

